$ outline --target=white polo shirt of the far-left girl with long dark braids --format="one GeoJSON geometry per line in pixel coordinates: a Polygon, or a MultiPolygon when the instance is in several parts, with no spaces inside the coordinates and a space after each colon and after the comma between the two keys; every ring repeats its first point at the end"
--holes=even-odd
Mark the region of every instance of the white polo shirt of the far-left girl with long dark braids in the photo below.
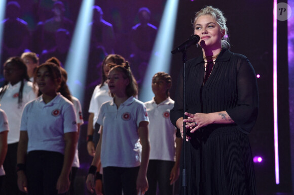
{"type": "MultiPolygon", "coordinates": [[[[19,88],[21,82],[11,85],[8,84],[8,89],[5,91],[2,99],[0,100],[1,109],[5,111],[8,121],[13,121],[9,123],[9,133],[7,137],[7,143],[16,143],[19,141],[20,134],[20,120],[21,113],[24,109],[26,103],[36,99],[36,94],[33,91],[33,84],[29,81],[24,81],[23,91],[22,91],[22,104],[18,104],[19,88]]],[[[0,88],[0,91],[2,88],[0,88]]]]}

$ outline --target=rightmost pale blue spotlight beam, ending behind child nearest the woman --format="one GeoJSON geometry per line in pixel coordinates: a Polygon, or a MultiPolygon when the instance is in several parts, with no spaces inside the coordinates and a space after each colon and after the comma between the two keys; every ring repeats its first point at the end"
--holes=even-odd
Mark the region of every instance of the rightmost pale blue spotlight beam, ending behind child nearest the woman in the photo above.
{"type": "Polygon", "coordinates": [[[139,94],[139,100],[142,102],[149,101],[153,97],[151,88],[153,75],[160,71],[169,73],[171,61],[170,51],[172,50],[171,40],[174,38],[177,7],[178,0],[168,0],[166,2],[155,44],[153,46],[152,56],[142,84],[142,91],[139,94]]]}

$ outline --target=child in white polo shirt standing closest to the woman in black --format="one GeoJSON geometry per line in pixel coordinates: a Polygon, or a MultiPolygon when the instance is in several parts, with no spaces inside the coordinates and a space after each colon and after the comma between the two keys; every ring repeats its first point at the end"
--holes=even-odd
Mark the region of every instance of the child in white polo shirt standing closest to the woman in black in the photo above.
{"type": "Polygon", "coordinates": [[[157,183],[161,195],[172,194],[172,184],[179,175],[182,139],[175,136],[176,128],[169,118],[174,101],[169,97],[171,76],[158,72],[152,78],[153,100],[146,102],[149,115],[150,160],[147,171],[149,189],[145,194],[156,194],[157,183]]]}

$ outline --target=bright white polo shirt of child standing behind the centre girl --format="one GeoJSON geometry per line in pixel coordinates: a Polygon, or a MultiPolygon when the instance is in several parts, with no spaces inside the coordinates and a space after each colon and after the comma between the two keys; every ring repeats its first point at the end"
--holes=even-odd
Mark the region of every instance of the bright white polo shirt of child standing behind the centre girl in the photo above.
{"type": "Polygon", "coordinates": [[[109,95],[108,91],[109,88],[106,82],[104,82],[104,85],[101,88],[100,85],[97,85],[93,91],[89,106],[89,113],[94,113],[93,127],[95,126],[95,123],[97,121],[101,105],[104,102],[111,101],[113,99],[109,95]]]}

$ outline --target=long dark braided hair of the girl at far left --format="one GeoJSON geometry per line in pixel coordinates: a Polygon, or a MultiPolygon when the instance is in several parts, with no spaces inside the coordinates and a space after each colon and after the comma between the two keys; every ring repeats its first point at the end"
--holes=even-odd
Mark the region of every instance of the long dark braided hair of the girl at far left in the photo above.
{"type": "MultiPolygon", "coordinates": [[[[19,108],[21,107],[21,104],[22,104],[22,93],[23,93],[23,86],[24,86],[24,81],[29,81],[29,77],[27,75],[27,68],[26,68],[26,65],[25,63],[22,61],[22,59],[18,56],[16,57],[11,57],[9,58],[5,63],[4,63],[4,67],[7,65],[7,64],[14,64],[14,65],[17,65],[19,69],[22,70],[22,75],[21,75],[21,78],[20,78],[20,88],[19,88],[19,92],[18,92],[18,106],[19,108]]],[[[5,81],[4,84],[3,84],[3,88],[2,90],[0,91],[0,100],[2,99],[5,91],[7,90],[8,88],[8,84],[9,82],[8,81],[5,81]]]]}

